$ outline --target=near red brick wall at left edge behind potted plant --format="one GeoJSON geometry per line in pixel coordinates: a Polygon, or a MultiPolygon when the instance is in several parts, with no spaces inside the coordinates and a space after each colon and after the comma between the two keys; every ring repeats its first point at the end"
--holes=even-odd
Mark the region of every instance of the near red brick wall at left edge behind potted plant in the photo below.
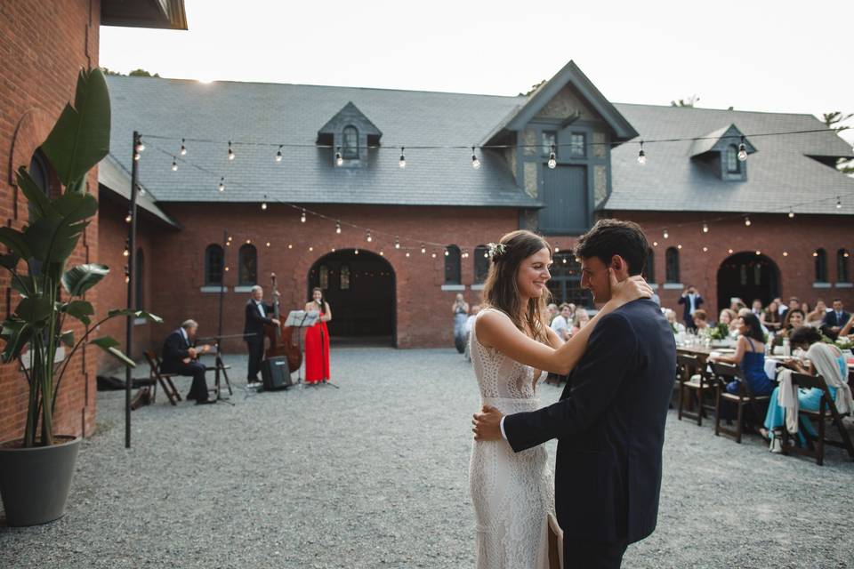
{"type": "MultiPolygon", "coordinates": [[[[21,228],[27,222],[27,203],[13,183],[14,170],[29,165],[65,103],[74,99],[79,68],[98,65],[100,7],[98,0],[0,3],[0,217],[8,226],[21,228]]],[[[95,172],[89,188],[97,195],[95,172]]],[[[97,258],[98,224],[93,220],[70,263],[97,258]]],[[[10,291],[5,271],[0,290],[0,318],[5,318],[20,300],[10,291]]],[[[93,294],[87,300],[94,301],[93,294]]],[[[80,328],[75,330],[79,337],[80,328]]],[[[57,433],[93,431],[94,370],[93,349],[79,351],[60,390],[57,433]]],[[[26,381],[16,365],[0,366],[0,441],[22,435],[26,413],[26,381]]]]}

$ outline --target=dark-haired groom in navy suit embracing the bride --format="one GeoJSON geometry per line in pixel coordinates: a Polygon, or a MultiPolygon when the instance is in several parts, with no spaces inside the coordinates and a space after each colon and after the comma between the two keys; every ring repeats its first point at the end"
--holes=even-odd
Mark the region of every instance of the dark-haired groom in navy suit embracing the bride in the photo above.
{"type": "MultiPolygon", "coordinates": [[[[648,251],[635,223],[600,220],[576,245],[582,286],[608,301],[608,268],[618,281],[640,275],[648,251]]],[[[619,567],[626,546],[655,529],[675,377],[673,330],[655,302],[641,299],[600,319],[558,403],[506,417],[485,406],[475,415],[476,438],[505,438],[516,453],[558,439],[565,569],[619,567]]]]}

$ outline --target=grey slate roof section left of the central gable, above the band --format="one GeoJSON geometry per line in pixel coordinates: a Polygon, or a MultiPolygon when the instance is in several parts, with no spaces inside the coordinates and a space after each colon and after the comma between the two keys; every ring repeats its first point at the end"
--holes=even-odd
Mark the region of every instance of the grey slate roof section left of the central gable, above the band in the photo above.
{"type": "MultiPolygon", "coordinates": [[[[173,137],[143,141],[141,183],[158,202],[261,202],[301,204],[411,204],[536,207],[518,188],[504,160],[486,152],[483,166],[471,167],[469,149],[407,149],[400,146],[474,145],[520,103],[519,97],[441,92],[107,77],[113,120],[110,154],[130,170],[133,130],[173,137]],[[329,148],[234,145],[227,141],[269,141],[313,145],[318,131],[349,101],[383,132],[367,168],[337,168],[329,148]],[[173,154],[181,138],[225,140],[187,142],[188,164],[173,154]],[[165,149],[166,155],[157,148],[165,149]],[[201,166],[200,172],[189,163],[201,166]],[[226,189],[217,191],[220,177],[226,189]]],[[[480,152],[480,151],[478,151],[480,152]]]]}

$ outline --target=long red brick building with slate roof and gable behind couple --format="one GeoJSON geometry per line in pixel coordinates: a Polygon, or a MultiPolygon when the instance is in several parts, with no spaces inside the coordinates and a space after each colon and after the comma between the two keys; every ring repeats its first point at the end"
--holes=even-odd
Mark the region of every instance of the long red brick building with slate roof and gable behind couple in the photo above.
{"type": "Polygon", "coordinates": [[[614,104],[572,62],[528,97],[136,77],[109,87],[111,259],[124,248],[133,130],[148,147],[142,306],[165,323],[141,326],[141,343],[186,317],[215,333],[221,285],[223,333],[240,333],[249,287],[275,272],[285,309],[325,289],[334,337],[449,345],[455,293],[479,297],[478,247],[515,228],[562,251],[555,298],[589,303],[568,249],[600,217],[647,229],[665,305],[687,284],[710,309],[778,294],[854,305],[854,180],[834,169],[854,154],[813,116],[614,104]],[[798,133],[762,136],[777,132],[798,133]]]}

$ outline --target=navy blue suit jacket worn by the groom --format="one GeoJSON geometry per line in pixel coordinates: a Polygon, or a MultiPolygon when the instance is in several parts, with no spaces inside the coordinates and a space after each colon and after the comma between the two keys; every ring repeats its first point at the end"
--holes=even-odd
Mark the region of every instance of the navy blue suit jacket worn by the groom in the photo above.
{"type": "Polygon", "coordinates": [[[558,403],[504,419],[517,453],[558,439],[555,506],[566,538],[632,543],[653,532],[675,377],[673,329],[641,299],[596,324],[558,403]]]}

